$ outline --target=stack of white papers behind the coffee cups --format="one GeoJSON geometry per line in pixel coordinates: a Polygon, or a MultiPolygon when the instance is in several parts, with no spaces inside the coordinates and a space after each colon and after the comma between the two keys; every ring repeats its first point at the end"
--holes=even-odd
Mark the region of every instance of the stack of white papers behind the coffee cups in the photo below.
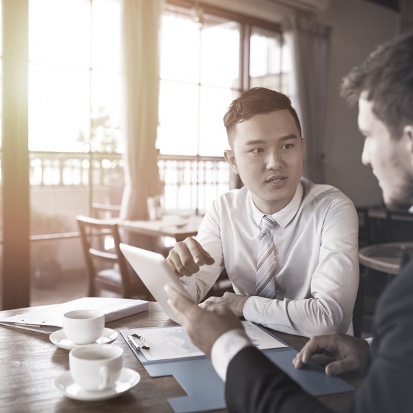
{"type": "Polygon", "coordinates": [[[106,298],[106,297],[84,297],[67,301],[62,304],[46,306],[41,310],[13,315],[0,319],[0,324],[6,326],[23,328],[43,334],[61,330],[63,326],[63,314],[72,310],[85,310],[94,308],[105,313],[105,323],[114,321],[129,315],[149,310],[149,301],[142,299],[106,298]]]}

